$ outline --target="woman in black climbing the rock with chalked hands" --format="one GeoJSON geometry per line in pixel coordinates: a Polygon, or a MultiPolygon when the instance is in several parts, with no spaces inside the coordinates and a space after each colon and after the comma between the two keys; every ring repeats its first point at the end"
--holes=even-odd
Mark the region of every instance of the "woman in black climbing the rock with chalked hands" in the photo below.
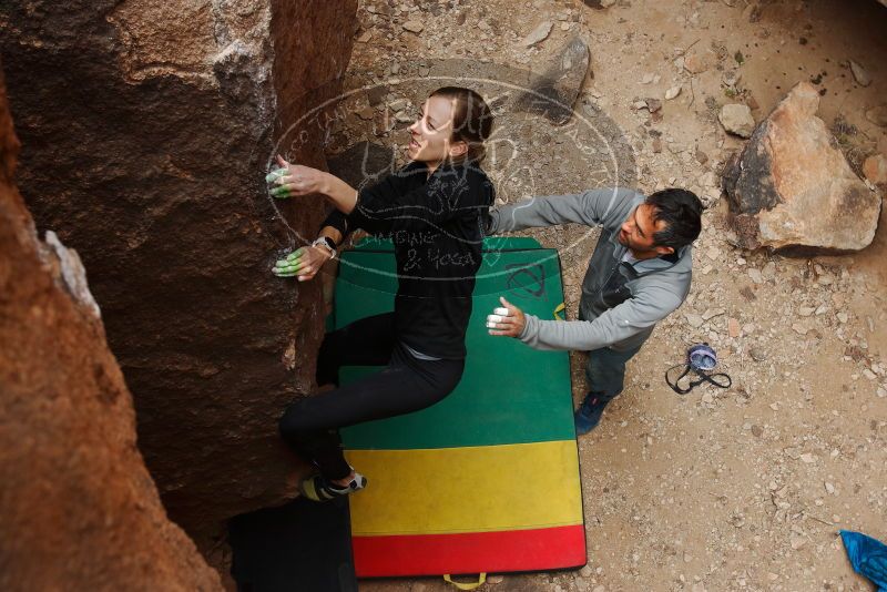
{"type": "Polygon", "coordinates": [[[328,173],[287,163],[272,193],[319,193],[335,206],[320,236],[275,265],[281,277],[312,279],[356,228],[394,242],[395,310],[330,333],[320,346],[317,384],[337,388],[290,404],[281,436],[318,473],[300,483],[315,501],[346,496],[366,479],[345,460],[338,428],[408,414],[449,395],[462,376],[465,334],[480,267],[483,218],[493,187],[480,169],[492,114],[469,89],[432,92],[410,127],[409,164],[361,191],[328,173]],[[341,366],[385,366],[338,386],[341,366]]]}

